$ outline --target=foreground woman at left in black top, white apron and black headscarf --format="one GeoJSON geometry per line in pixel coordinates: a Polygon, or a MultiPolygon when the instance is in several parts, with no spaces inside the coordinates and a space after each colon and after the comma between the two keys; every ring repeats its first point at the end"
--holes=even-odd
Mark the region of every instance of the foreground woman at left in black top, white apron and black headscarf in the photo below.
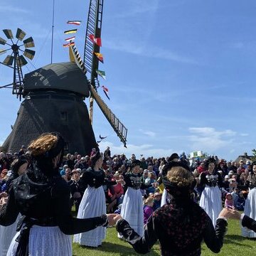
{"type": "MultiPolygon", "coordinates": [[[[70,188],[58,171],[64,144],[63,137],[52,132],[28,146],[32,157],[28,171],[13,181],[7,203],[0,205],[0,225],[11,225],[18,213],[22,215],[8,255],[70,256],[70,235],[107,225],[107,215],[72,217],[70,188]]],[[[110,215],[110,222],[112,218],[110,215]]]]}

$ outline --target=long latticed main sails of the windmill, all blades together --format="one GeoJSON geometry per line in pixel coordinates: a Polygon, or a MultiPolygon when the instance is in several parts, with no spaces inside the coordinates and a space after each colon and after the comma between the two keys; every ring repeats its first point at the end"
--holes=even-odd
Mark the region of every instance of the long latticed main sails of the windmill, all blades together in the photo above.
{"type": "Polygon", "coordinates": [[[102,100],[97,93],[97,88],[100,87],[100,81],[98,80],[98,74],[96,70],[99,67],[99,59],[94,53],[100,53],[99,44],[95,43],[92,38],[100,38],[102,30],[102,14],[103,14],[103,0],[90,0],[89,12],[87,17],[87,28],[85,36],[85,50],[83,60],[78,53],[78,49],[75,46],[70,46],[70,60],[77,63],[78,67],[84,74],[90,73],[90,79],[88,80],[90,90],[90,109],[89,116],[92,124],[93,116],[93,102],[97,102],[97,105],[102,110],[102,113],[107,118],[114,132],[126,147],[127,142],[127,128],[124,124],[115,116],[115,114],[107,107],[107,104],[102,100]]]}

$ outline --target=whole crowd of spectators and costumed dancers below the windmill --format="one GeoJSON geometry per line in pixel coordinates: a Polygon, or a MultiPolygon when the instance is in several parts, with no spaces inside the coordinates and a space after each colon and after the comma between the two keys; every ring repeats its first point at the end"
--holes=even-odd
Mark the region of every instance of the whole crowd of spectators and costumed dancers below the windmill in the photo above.
{"type": "MultiPolygon", "coordinates": [[[[97,247],[105,239],[106,226],[117,220],[118,238],[128,240],[138,252],[149,251],[159,239],[163,255],[169,255],[169,250],[174,252],[170,255],[179,255],[178,252],[189,255],[188,250],[200,255],[202,238],[210,250],[220,250],[227,225],[225,217],[233,214],[250,224],[250,218],[256,219],[256,164],[250,161],[237,163],[217,156],[189,161],[184,153],[161,158],[142,155],[137,159],[134,154],[130,157],[111,154],[110,147],[103,153],[92,149],[86,156],[79,152],[63,156],[62,137],[58,133],[43,136],[28,149],[21,146],[14,154],[0,152],[0,247],[3,244],[0,255],[6,255],[8,249],[9,255],[18,255],[16,251],[28,255],[28,251],[36,250],[35,246],[41,246],[40,242],[33,247],[26,245],[29,234],[23,234],[24,226],[29,227],[28,230],[33,225],[49,226],[48,230],[44,227],[42,234],[58,235],[67,244],[62,248],[56,245],[60,255],[63,252],[71,255],[70,237],[66,235],[75,234],[73,242],[80,245],[97,247]],[[34,196],[34,191],[38,196],[34,196]],[[30,206],[35,206],[36,200],[41,206],[36,203],[39,210],[32,214],[30,206]],[[73,206],[77,218],[71,216],[73,206]],[[49,213],[46,209],[55,209],[55,212],[49,213]],[[245,217],[235,210],[244,211],[245,217]],[[26,218],[16,233],[21,215],[26,218]],[[156,230],[164,221],[160,218],[163,215],[171,216],[171,223],[156,230]],[[175,230],[180,230],[184,221],[183,226],[190,223],[191,234],[187,234],[186,246],[181,247],[178,244],[181,234],[175,230]],[[59,227],[57,230],[53,230],[55,225],[59,227]],[[166,229],[174,230],[171,237],[176,235],[171,243],[164,237],[164,234],[170,235],[166,229]],[[152,233],[153,236],[149,235],[152,233]],[[206,233],[210,237],[206,237],[206,233]],[[14,235],[16,238],[11,241],[14,235]],[[19,240],[23,240],[25,249],[19,240]]],[[[38,231],[33,227],[31,230],[30,235],[35,238],[38,231]]],[[[242,228],[242,235],[256,238],[256,233],[247,228],[242,228]]]]}

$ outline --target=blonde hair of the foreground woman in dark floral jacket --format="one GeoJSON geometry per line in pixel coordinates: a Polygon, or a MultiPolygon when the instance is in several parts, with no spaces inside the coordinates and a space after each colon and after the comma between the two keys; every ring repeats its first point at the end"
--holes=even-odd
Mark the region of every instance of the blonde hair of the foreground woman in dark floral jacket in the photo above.
{"type": "Polygon", "coordinates": [[[181,166],[171,168],[167,173],[167,178],[178,187],[190,186],[194,181],[193,174],[181,166]]]}

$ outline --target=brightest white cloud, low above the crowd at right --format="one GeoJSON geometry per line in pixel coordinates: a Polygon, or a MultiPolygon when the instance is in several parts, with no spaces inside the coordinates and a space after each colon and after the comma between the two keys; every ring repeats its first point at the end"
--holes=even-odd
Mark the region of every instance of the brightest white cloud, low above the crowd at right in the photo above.
{"type": "Polygon", "coordinates": [[[188,136],[189,141],[192,142],[192,150],[208,151],[210,154],[218,149],[231,146],[236,134],[230,129],[217,132],[213,127],[191,127],[188,131],[193,134],[188,136]]]}

